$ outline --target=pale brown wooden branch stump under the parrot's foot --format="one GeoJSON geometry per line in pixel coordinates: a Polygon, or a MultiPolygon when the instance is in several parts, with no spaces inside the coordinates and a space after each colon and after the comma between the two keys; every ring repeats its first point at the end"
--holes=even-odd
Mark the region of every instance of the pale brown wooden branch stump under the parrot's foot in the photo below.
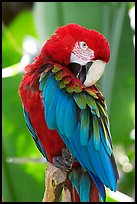
{"type": "Polygon", "coordinates": [[[67,173],[48,162],[45,177],[45,193],[42,202],[58,202],[67,173]]]}

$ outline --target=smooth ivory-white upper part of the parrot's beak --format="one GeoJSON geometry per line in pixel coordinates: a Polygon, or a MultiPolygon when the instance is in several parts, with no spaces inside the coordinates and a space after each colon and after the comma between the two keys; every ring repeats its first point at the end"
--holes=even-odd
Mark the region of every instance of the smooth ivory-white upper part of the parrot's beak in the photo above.
{"type": "Polygon", "coordinates": [[[93,62],[93,64],[90,66],[86,80],[84,82],[84,85],[89,87],[95,84],[100,77],[102,76],[104,69],[105,69],[105,62],[102,60],[96,60],[93,62]]]}

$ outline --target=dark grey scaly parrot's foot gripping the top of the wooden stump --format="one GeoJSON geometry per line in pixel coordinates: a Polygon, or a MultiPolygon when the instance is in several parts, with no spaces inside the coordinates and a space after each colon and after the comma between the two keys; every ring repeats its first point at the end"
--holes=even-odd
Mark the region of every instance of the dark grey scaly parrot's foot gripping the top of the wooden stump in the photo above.
{"type": "Polygon", "coordinates": [[[66,171],[71,170],[72,165],[75,161],[76,160],[72,157],[72,154],[67,148],[62,149],[62,156],[56,156],[53,158],[53,164],[57,168],[61,168],[66,171]]]}

